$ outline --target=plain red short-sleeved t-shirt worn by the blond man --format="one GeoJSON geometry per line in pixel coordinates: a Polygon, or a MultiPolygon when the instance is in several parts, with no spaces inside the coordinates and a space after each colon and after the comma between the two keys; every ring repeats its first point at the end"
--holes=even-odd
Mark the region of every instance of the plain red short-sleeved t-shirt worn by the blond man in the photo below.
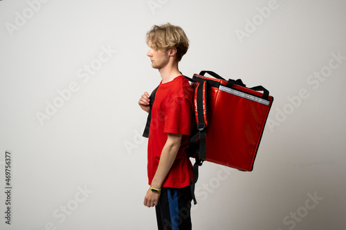
{"type": "Polygon", "coordinates": [[[188,79],[182,75],[171,82],[160,83],[152,106],[152,119],[148,140],[148,178],[149,184],[156,173],[167,133],[183,134],[181,147],[172,168],[168,172],[163,187],[183,188],[192,182],[192,164],[186,155],[189,135],[192,130],[193,90],[188,79]]]}

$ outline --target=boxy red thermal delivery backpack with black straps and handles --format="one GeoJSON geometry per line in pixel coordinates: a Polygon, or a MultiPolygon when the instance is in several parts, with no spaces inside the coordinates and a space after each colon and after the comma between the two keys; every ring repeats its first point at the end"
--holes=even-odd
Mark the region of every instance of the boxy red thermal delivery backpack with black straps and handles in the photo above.
{"type": "MultiPolygon", "coordinates": [[[[241,79],[224,79],[212,71],[194,74],[194,128],[190,135],[188,156],[194,157],[192,198],[203,161],[252,171],[273,97],[263,86],[247,88],[241,79]],[[208,73],[212,77],[205,77],[208,73]],[[259,91],[262,91],[260,93],[259,91]]],[[[156,88],[157,89],[157,88],[156,88]]],[[[150,96],[150,108],[156,89],[150,96]]],[[[149,136],[151,110],[143,137],[149,136]]]]}

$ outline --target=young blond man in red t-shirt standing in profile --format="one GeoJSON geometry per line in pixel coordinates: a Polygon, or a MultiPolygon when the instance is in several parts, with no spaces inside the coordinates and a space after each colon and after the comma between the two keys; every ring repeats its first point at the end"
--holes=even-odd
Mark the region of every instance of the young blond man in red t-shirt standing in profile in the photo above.
{"type": "MultiPolygon", "coordinates": [[[[193,90],[178,64],[189,41],[179,26],[167,23],[147,32],[147,56],[162,81],[152,106],[148,140],[149,189],[144,205],[156,209],[159,230],[192,229],[190,209],[192,164],[187,157],[192,130],[193,90]]],[[[140,108],[149,113],[149,94],[140,97],[140,108]]]]}

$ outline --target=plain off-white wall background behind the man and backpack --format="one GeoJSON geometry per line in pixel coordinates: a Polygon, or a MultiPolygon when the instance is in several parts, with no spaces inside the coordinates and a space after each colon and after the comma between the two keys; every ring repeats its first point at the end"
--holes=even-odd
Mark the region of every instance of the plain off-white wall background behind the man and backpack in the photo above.
{"type": "Polygon", "coordinates": [[[0,228],[156,229],[137,102],[160,81],[145,32],[166,22],[190,39],[185,75],[275,97],[252,172],[203,164],[194,229],[345,228],[345,12],[342,0],[0,1],[0,228]]]}

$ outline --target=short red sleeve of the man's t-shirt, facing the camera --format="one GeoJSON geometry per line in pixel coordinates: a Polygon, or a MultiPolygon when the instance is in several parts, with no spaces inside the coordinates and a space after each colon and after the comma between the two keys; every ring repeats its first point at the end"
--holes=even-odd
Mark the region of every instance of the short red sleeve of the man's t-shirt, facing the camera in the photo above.
{"type": "Polygon", "coordinates": [[[165,133],[190,135],[192,130],[192,102],[185,97],[177,97],[167,105],[165,111],[165,133]]]}

